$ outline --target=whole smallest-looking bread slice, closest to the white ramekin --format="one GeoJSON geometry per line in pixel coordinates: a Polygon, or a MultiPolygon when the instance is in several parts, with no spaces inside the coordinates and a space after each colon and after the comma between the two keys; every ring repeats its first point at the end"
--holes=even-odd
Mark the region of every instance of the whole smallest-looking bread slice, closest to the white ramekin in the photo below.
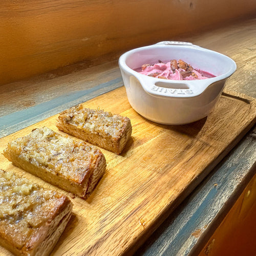
{"type": "Polygon", "coordinates": [[[83,108],[81,104],[61,112],[56,125],[62,132],[116,154],[122,152],[132,134],[129,118],[83,108]]]}

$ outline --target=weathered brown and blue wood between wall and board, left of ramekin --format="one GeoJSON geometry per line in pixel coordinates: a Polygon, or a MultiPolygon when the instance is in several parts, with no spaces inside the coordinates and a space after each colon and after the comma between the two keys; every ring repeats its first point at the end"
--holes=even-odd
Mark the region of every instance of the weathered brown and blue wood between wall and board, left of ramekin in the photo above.
{"type": "MultiPolygon", "coordinates": [[[[0,137],[123,86],[117,62],[45,74],[0,88],[0,137]],[[20,117],[23,117],[22,119],[20,117]]],[[[81,67],[80,67],[81,68],[81,67]]]]}

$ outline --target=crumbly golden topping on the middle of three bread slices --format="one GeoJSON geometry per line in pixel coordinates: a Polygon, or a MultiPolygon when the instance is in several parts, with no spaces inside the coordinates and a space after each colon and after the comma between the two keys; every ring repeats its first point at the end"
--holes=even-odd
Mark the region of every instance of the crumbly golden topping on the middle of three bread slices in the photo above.
{"type": "Polygon", "coordinates": [[[33,130],[29,135],[9,142],[6,152],[49,172],[74,181],[81,181],[100,154],[100,151],[83,141],[55,133],[48,127],[33,130]]]}

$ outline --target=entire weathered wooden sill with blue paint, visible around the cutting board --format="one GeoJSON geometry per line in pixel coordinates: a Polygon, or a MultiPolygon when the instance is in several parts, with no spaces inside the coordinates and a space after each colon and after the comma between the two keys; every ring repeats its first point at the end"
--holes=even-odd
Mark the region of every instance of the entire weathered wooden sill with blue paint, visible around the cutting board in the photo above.
{"type": "MultiPolygon", "coordinates": [[[[255,97],[255,34],[253,18],[193,36],[169,39],[190,41],[233,58],[237,71],[225,90],[255,97]]],[[[0,137],[121,86],[117,59],[90,68],[87,61],[79,62],[4,84],[0,87],[0,137]]],[[[255,172],[254,137],[255,131],[251,130],[136,254],[200,252],[255,172]],[[211,195],[209,191],[217,180],[218,191],[211,195]]]]}

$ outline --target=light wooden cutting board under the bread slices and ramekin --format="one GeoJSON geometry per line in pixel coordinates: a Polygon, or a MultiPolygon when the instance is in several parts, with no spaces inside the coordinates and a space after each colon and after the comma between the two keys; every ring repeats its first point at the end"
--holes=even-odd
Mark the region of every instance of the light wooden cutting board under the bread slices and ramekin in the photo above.
{"type": "MultiPolygon", "coordinates": [[[[71,199],[73,216],[52,255],[132,253],[253,126],[255,99],[223,93],[207,118],[180,126],[162,125],[137,114],[124,87],[83,103],[131,119],[132,137],[120,156],[102,150],[106,173],[92,195],[71,199]]],[[[35,127],[55,127],[57,115],[0,139],[8,141],[35,127]]],[[[39,178],[13,166],[3,155],[0,168],[13,170],[44,187],[39,178]]],[[[0,247],[1,255],[11,255],[0,247]]]]}

